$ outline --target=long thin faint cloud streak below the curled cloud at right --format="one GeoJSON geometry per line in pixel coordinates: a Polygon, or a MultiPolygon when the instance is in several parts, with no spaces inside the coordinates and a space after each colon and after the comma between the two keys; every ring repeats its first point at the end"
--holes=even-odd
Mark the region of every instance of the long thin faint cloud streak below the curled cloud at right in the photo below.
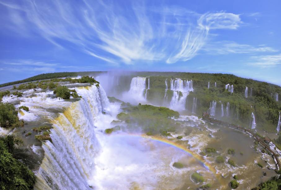
{"type": "Polygon", "coordinates": [[[229,54],[229,53],[256,53],[256,52],[277,52],[272,47],[265,45],[259,45],[257,47],[239,44],[232,41],[213,42],[212,44],[206,44],[203,50],[212,55],[229,54]]]}

